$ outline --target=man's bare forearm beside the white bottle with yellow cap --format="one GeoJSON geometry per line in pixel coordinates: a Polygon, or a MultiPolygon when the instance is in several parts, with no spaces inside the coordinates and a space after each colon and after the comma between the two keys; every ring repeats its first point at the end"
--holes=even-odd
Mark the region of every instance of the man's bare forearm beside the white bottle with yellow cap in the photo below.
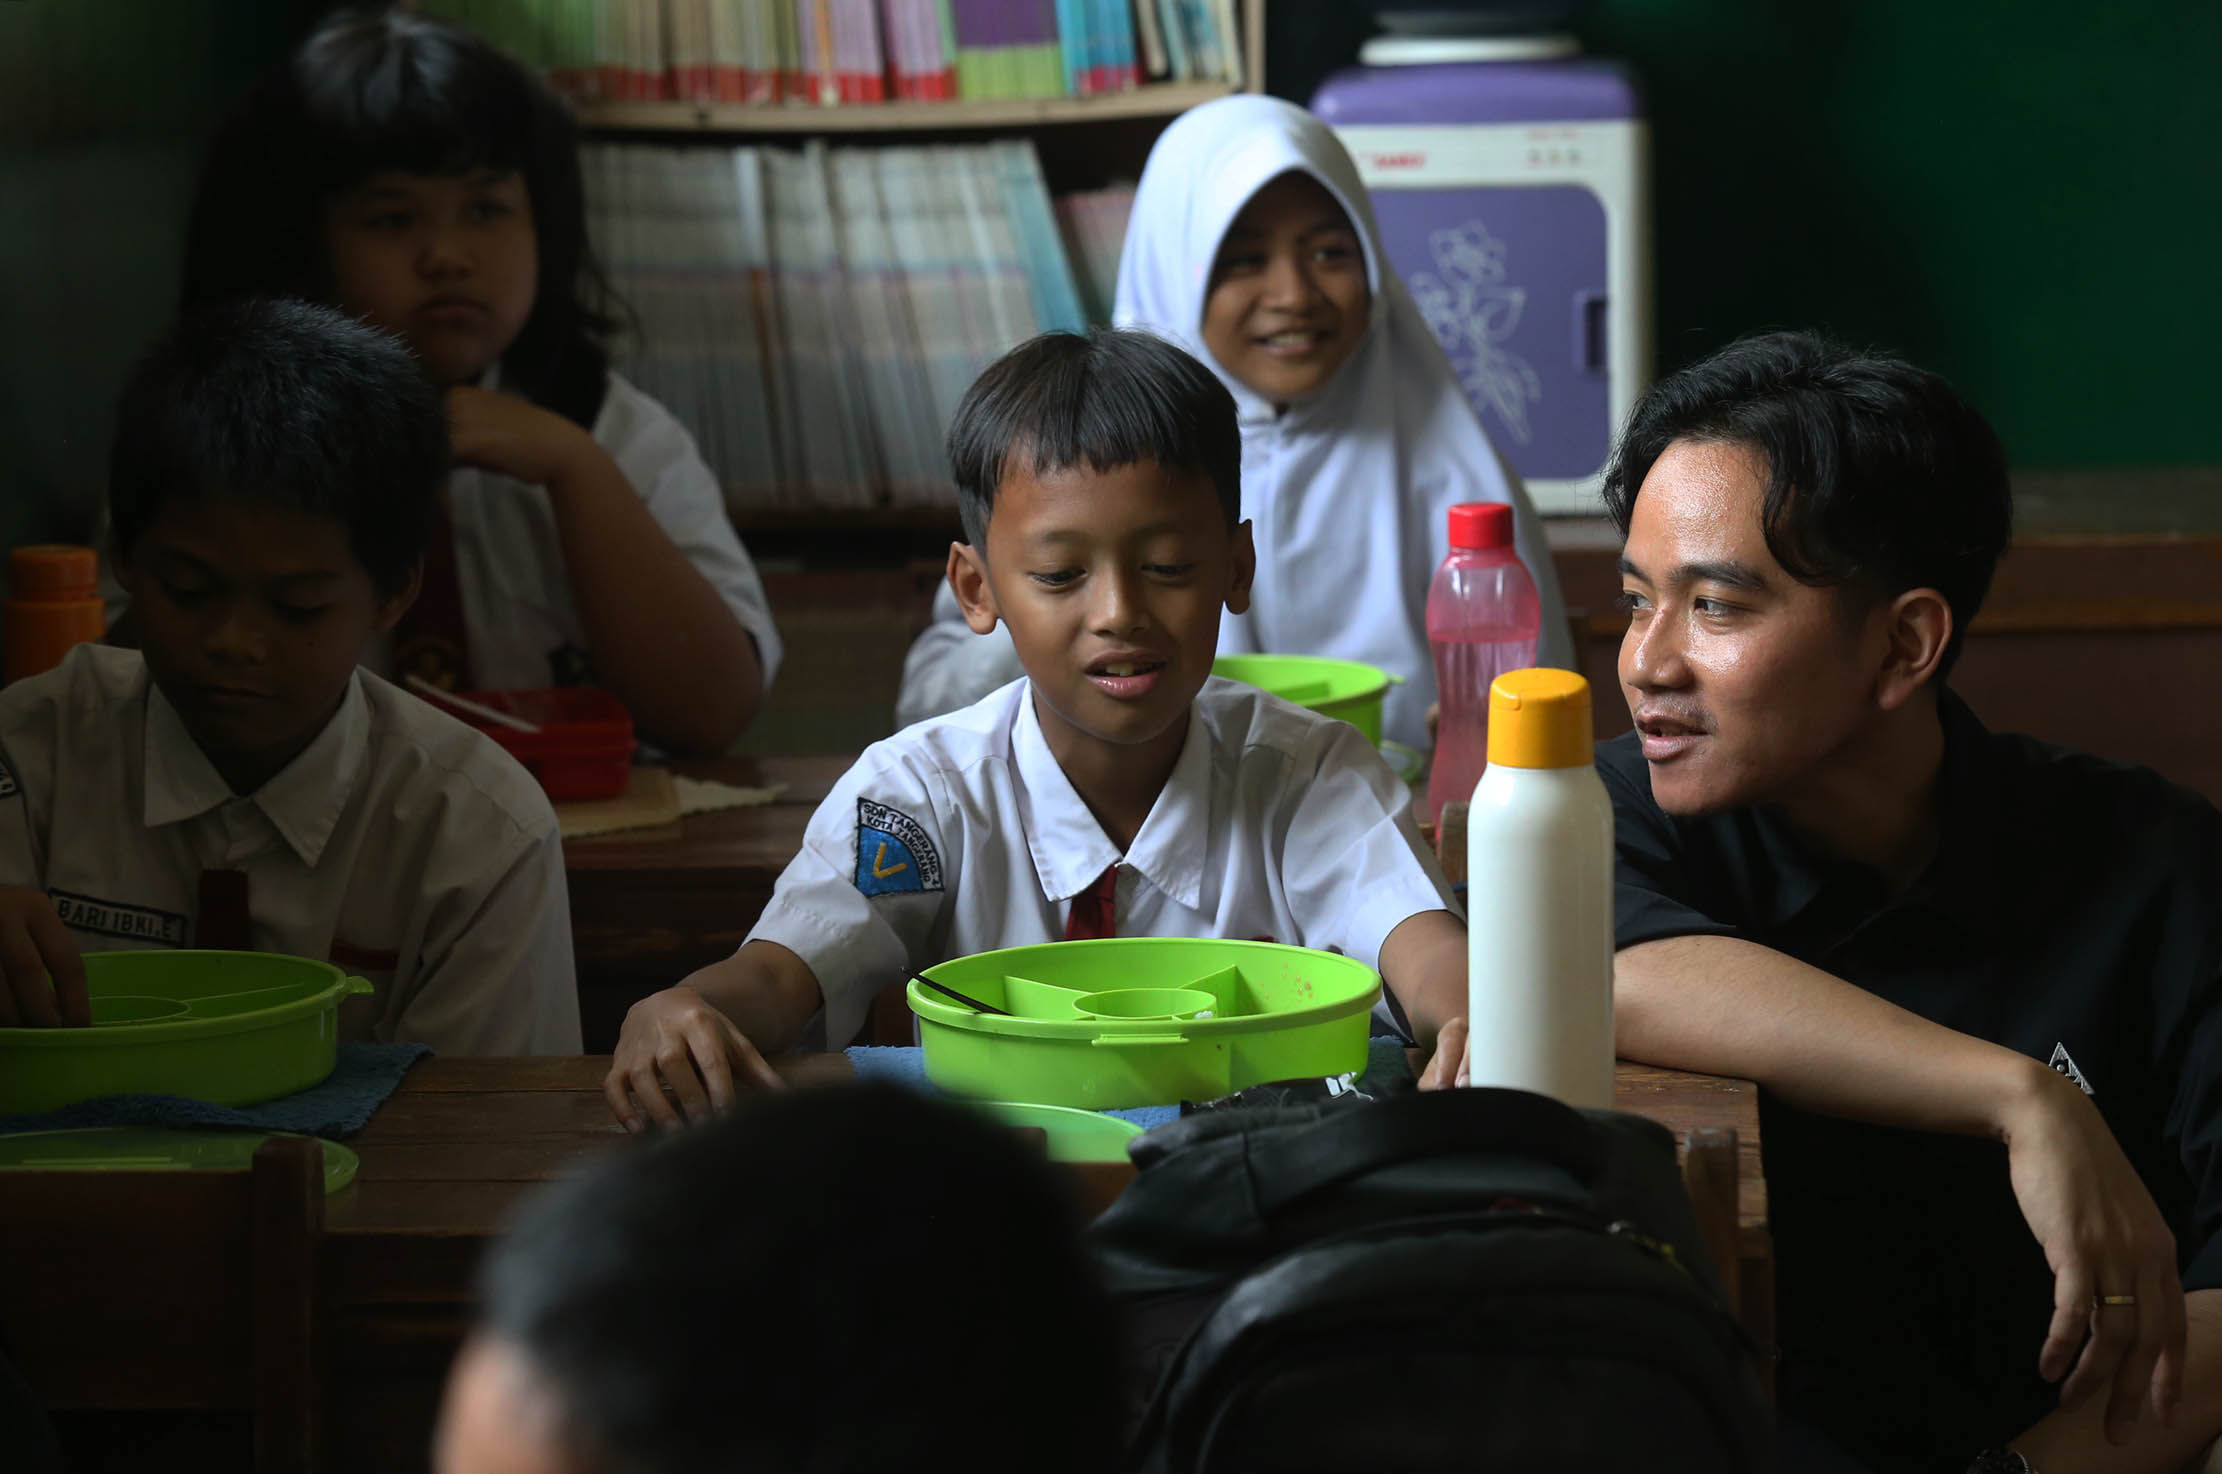
{"type": "Polygon", "coordinates": [[[2060,1085],[2044,1065],[1929,1023],[1771,947],[1675,936],[1613,958],[1620,1054],[1758,1080],[1826,1116],[1995,1136],[2060,1085]]]}

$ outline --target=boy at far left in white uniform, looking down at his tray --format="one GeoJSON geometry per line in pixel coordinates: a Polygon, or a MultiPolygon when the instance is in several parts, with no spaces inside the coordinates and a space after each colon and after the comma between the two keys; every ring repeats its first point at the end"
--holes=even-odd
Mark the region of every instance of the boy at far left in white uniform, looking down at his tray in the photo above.
{"type": "Polygon", "coordinates": [[[369,978],[342,1038],[578,1052],[547,796],[356,667],[447,456],[438,389],[338,311],[216,309],[138,367],[109,518],[142,649],[0,691],[0,1025],[84,1023],[84,949],[227,945],[369,978]]]}

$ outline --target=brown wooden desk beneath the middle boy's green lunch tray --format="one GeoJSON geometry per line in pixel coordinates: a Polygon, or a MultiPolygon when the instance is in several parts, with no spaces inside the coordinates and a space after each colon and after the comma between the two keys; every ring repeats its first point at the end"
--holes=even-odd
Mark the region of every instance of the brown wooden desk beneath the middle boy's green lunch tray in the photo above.
{"type": "MultiPolygon", "coordinates": [[[[336,1470],[420,1470],[447,1363],[471,1314],[471,1274],[504,1214],[538,1183],[624,1141],[602,1103],[607,1058],[433,1058],[402,1080],[349,1145],[353,1187],[324,1207],[324,1287],[333,1327],[324,1447],[336,1470]]],[[[840,1078],[849,1063],[782,1063],[793,1080],[840,1078]]],[[[1742,1158],[1738,1232],[1742,1316],[1771,1341],[1773,1247],[1760,1174],[1758,1092],[1744,1080],[1620,1067],[1618,1103],[1673,1127],[1733,1127],[1742,1158]]],[[[1133,1169],[1075,1172],[1107,1203],[1133,1169]]]]}

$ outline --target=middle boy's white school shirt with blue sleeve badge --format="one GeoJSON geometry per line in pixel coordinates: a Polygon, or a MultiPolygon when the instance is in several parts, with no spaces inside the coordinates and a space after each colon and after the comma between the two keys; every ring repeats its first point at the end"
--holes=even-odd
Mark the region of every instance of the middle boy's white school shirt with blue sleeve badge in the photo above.
{"type": "Polygon", "coordinates": [[[1127,854],[1058,767],[1015,680],[864,749],[811,816],[749,940],[818,976],[842,1045],[873,996],[975,952],[1064,938],[1120,865],[1120,936],[1262,938],[1380,965],[1409,916],[1451,909],[1411,791],[1358,729],[1211,678],[1127,854]]]}

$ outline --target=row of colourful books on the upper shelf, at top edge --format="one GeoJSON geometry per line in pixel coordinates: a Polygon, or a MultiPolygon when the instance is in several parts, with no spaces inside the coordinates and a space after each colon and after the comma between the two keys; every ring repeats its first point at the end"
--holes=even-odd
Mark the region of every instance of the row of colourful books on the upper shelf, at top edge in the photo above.
{"type": "Polygon", "coordinates": [[[1242,84],[1235,0],[427,0],[580,100],[1084,98],[1242,84]]]}

